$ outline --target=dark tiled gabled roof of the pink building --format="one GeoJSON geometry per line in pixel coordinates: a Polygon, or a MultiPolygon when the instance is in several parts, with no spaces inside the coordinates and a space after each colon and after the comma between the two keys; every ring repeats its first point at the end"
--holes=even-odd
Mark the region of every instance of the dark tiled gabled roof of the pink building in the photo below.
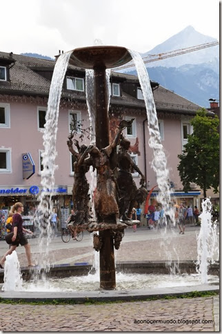
{"type": "MultiPolygon", "coordinates": [[[[8,95],[39,95],[48,97],[50,91],[50,80],[43,77],[41,71],[52,72],[54,70],[55,61],[48,59],[39,59],[34,57],[27,57],[23,55],[14,55],[11,53],[0,52],[0,64],[1,60],[9,61],[10,65],[10,81],[0,81],[0,93],[8,95]]],[[[68,70],[81,70],[74,66],[68,66],[68,70]]],[[[118,72],[111,72],[112,78],[119,78],[130,83],[134,83],[138,86],[139,80],[137,76],[127,75],[118,72]]],[[[152,86],[158,86],[158,83],[153,82],[152,86]]],[[[154,101],[157,110],[176,112],[192,111],[196,112],[200,106],[192,103],[191,101],[176,95],[171,90],[168,90],[162,86],[154,89],[154,101]]],[[[85,101],[85,93],[65,90],[62,92],[63,97],[69,97],[72,99],[80,99],[85,101]]],[[[134,108],[145,108],[143,100],[132,97],[127,92],[122,91],[121,97],[111,97],[111,104],[125,105],[134,108]]]]}

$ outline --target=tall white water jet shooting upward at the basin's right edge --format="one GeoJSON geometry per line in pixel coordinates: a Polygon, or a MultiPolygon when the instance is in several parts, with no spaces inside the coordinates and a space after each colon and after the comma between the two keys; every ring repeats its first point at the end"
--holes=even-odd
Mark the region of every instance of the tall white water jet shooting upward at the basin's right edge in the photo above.
{"type": "Polygon", "coordinates": [[[219,259],[219,241],[217,238],[216,222],[212,222],[212,204],[210,199],[202,202],[203,212],[201,218],[201,230],[197,237],[197,271],[201,274],[201,283],[208,283],[208,266],[219,259]]]}

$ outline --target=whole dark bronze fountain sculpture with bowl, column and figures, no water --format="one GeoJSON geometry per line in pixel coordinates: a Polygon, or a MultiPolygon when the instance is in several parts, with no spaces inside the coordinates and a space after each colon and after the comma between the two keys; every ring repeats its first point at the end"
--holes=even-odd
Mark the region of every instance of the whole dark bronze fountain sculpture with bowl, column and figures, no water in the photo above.
{"type": "Polygon", "coordinates": [[[72,52],[70,64],[85,69],[94,69],[95,86],[95,135],[96,145],[79,146],[78,152],[72,144],[72,133],[68,137],[68,148],[74,155],[74,222],[68,225],[72,233],[80,230],[99,231],[94,235],[94,248],[100,252],[100,286],[103,289],[116,287],[114,247],[119,248],[124,228],[139,222],[132,221],[128,215],[137,202],[141,204],[146,197],[145,178],[128,153],[129,145],[124,146],[123,128],[132,124],[122,120],[119,123],[114,141],[109,141],[108,94],[105,70],[127,63],[132,59],[127,49],[114,46],[94,46],[79,48],[72,52]],[[117,153],[117,146],[120,150],[117,153]],[[90,166],[97,170],[97,189],[94,193],[96,222],[90,216],[89,185],[85,177],[90,166]],[[134,168],[141,175],[141,187],[132,180],[130,170],[134,168]],[[122,175],[126,175],[122,180],[122,175]],[[131,177],[131,178],[130,178],[131,177]],[[125,180],[125,181],[124,181],[125,180]],[[122,221],[121,218],[122,217],[122,221]]]}

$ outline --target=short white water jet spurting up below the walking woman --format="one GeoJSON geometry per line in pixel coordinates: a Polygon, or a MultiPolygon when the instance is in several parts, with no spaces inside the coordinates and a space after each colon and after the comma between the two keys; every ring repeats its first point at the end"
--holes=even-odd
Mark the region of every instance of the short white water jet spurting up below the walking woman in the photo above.
{"type": "Polygon", "coordinates": [[[13,250],[12,254],[6,256],[4,271],[3,291],[21,291],[22,278],[17,252],[13,250]]]}

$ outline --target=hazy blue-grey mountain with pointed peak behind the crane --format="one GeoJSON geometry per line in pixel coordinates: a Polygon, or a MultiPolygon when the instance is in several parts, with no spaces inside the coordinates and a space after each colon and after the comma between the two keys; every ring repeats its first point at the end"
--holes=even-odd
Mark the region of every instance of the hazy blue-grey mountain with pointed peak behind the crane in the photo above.
{"type": "MultiPolygon", "coordinates": [[[[145,52],[142,57],[212,41],[216,39],[200,34],[188,26],[152,50],[145,52]]],[[[161,86],[173,90],[199,106],[209,108],[210,98],[219,100],[219,46],[145,63],[145,66],[151,80],[157,81],[161,86]]],[[[137,75],[135,68],[128,68],[121,72],[137,75]]]]}

